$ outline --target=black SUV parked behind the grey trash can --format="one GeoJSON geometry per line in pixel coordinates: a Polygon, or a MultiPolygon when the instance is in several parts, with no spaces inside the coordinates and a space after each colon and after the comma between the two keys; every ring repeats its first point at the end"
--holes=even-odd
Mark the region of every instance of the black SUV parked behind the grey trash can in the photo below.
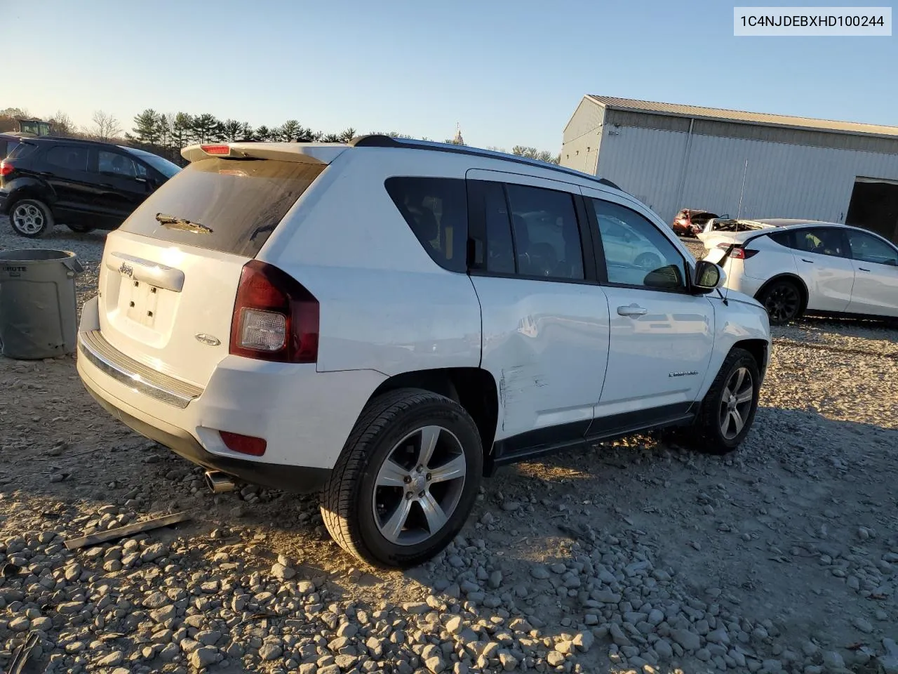
{"type": "Polygon", "coordinates": [[[180,171],[135,147],[74,138],[21,138],[0,162],[0,213],[22,236],[44,235],[54,222],[75,232],[115,229],[180,171]]]}

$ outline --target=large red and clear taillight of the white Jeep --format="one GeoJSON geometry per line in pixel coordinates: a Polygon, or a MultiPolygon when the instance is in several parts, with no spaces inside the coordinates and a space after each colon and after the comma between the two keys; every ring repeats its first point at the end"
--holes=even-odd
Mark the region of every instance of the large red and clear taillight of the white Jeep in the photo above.
{"type": "Polygon", "coordinates": [[[318,360],[318,300],[270,264],[243,266],[231,317],[230,353],[280,363],[318,360]]]}

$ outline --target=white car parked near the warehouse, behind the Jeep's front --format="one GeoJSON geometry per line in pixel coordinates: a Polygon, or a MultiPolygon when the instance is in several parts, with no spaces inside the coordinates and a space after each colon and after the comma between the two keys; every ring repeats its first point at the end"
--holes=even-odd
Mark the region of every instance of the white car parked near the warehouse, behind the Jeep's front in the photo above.
{"type": "Polygon", "coordinates": [[[700,235],[726,288],[756,297],[770,323],[805,313],[898,317],[898,246],[866,229],[770,219],[761,229],[700,235]]]}

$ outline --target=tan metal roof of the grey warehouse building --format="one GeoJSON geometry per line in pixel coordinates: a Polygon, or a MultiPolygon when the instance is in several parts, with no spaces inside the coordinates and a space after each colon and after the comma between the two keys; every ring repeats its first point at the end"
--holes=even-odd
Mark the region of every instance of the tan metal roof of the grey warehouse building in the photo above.
{"type": "Polygon", "coordinates": [[[746,124],[762,124],[764,126],[787,127],[791,129],[832,131],[833,133],[898,137],[898,127],[888,127],[882,124],[862,124],[854,121],[814,120],[809,117],[791,117],[789,115],[770,115],[763,112],[702,108],[697,105],[637,101],[631,98],[612,98],[611,96],[597,96],[593,94],[587,95],[586,98],[614,110],[650,112],[653,114],[671,115],[674,117],[693,117],[704,120],[733,121],[746,124]]]}

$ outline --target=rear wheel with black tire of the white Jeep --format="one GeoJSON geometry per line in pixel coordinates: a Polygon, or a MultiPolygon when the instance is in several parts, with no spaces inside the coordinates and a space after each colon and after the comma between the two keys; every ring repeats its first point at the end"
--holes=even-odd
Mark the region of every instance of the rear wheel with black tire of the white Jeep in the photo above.
{"type": "Polygon", "coordinates": [[[324,487],[321,517],[348,553],[408,568],[462,529],[482,473],[471,415],[443,395],[398,389],[363,410],[324,487]]]}

